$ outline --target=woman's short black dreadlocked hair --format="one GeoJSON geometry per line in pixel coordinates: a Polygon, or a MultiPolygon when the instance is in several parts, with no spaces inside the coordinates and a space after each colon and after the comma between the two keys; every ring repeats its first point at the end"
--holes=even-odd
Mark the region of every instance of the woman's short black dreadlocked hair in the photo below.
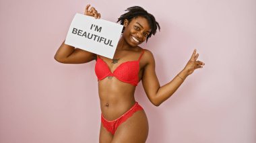
{"type": "MultiPolygon", "coordinates": [[[[123,25],[125,19],[127,19],[130,22],[131,19],[133,19],[134,17],[139,17],[139,16],[144,17],[148,20],[148,23],[150,24],[151,32],[150,32],[150,34],[148,34],[146,42],[148,42],[148,38],[150,38],[152,36],[152,34],[153,35],[156,34],[157,29],[160,31],[160,26],[159,26],[158,22],[156,21],[155,17],[152,14],[148,13],[148,11],[146,11],[142,7],[133,6],[133,7],[127,8],[125,11],[128,11],[128,12],[121,15],[119,17],[119,19],[117,20],[117,22],[120,21],[121,25],[123,25]]],[[[123,28],[123,31],[124,30],[125,30],[125,28],[123,28]]],[[[123,31],[122,31],[122,33],[123,33],[123,31]]]]}

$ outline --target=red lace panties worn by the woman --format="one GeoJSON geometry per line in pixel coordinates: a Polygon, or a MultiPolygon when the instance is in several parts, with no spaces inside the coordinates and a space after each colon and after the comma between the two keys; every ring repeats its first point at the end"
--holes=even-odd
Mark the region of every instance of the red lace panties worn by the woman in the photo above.
{"type": "Polygon", "coordinates": [[[139,105],[139,103],[136,102],[135,105],[133,105],[133,107],[131,107],[131,109],[129,109],[127,112],[125,112],[123,115],[121,115],[119,118],[117,118],[116,120],[113,120],[113,121],[106,120],[101,113],[101,123],[104,126],[104,128],[106,128],[106,130],[108,130],[108,132],[110,132],[111,134],[114,135],[117,128],[123,122],[125,122],[129,117],[131,117],[131,115],[133,115],[133,113],[135,113],[136,111],[139,111],[139,110],[143,110],[143,108],[139,105]]]}

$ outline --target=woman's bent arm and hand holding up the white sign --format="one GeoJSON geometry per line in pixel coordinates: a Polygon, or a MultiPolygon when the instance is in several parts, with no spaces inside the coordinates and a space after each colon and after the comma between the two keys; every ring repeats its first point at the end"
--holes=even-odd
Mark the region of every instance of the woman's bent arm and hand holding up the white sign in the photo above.
{"type": "MultiPolygon", "coordinates": [[[[93,16],[95,18],[100,18],[100,13],[96,11],[94,7],[90,5],[86,5],[86,10],[84,12],[85,15],[93,16]]],[[[82,50],[79,48],[75,48],[73,46],[69,46],[65,44],[65,41],[61,44],[59,49],[57,50],[55,56],[55,60],[64,64],[82,64],[86,62],[90,62],[96,59],[96,54],[92,52],[88,52],[86,50],[82,50]]]]}

